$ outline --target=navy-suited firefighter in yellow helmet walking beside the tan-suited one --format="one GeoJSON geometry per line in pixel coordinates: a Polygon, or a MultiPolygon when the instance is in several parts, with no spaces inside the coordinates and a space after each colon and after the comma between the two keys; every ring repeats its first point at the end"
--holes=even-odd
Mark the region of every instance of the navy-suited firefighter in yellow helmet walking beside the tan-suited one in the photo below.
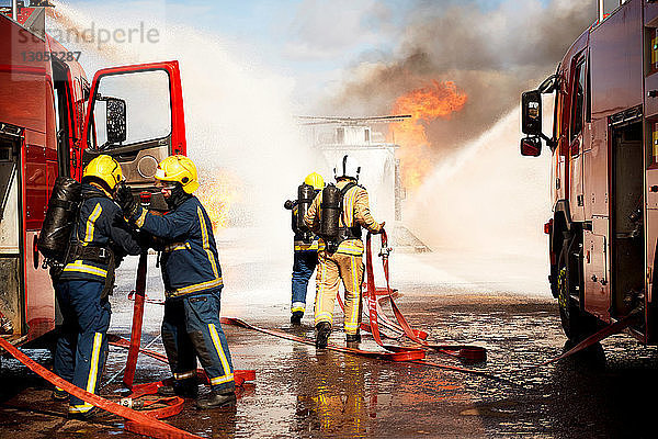
{"type": "Polygon", "coordinates": [[[284,207],[291,210],[292,227],[295,233],[295,255],[293,262],[291,324],[300,325],[306,311],[308,280],[318,264],[318,237],[304,223],[304,215],[319,191],[325,187],[322,176],[309,173],[297,188],[297,200],[286,201],[284,207]]]}

